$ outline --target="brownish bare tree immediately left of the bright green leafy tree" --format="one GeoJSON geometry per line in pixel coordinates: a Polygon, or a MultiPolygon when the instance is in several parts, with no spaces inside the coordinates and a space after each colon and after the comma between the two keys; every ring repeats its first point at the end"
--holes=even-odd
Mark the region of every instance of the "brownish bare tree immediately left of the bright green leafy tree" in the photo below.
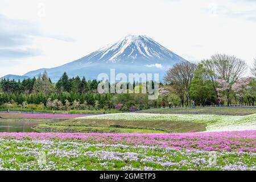
{"type": "Polygon", "coordinates": [[[168,70],[164,77],[164,81],[167,82],[167,84],[173,84],[175,86],[176,92],[179,93],[180,96],[181,105],[184,105],[184,96],[187,101],[187,106],[189,106],[191,102],[189,87],[196,68],[196,64],[189,62],[175,64],[174,67],[168,70]]]}

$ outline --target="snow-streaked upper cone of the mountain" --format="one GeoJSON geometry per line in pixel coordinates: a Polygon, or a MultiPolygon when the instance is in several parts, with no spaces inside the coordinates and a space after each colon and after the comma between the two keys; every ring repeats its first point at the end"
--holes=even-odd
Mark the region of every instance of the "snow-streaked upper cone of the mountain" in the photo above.
{"type": "Polygon", "coordinates": [[[98,49],[88,55],[88,61],[119,63],[135,59],[142,60],[184,60],[180,56],[161,46],[146,35],[127,35],[110,46],[98,49]]]}

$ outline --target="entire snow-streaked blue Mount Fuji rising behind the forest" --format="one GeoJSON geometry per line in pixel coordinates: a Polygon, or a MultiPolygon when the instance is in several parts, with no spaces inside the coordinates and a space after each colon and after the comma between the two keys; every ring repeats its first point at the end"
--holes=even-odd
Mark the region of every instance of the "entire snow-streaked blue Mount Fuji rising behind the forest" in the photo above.
{"type": "Polygon", "coordinates": [[[64,72],[69,77],[85,76],[86,79],[97,78],[100,73],[159,73],[163,79],[167,69],[176,63],[187,61],[174,52],[161,46],[148,36],[128,35],[119,42],[98,49],[89,55],[60,67],[38,69],[24,76],[34,77],[46,71],[52,81],[57,81],[64,72]]]}

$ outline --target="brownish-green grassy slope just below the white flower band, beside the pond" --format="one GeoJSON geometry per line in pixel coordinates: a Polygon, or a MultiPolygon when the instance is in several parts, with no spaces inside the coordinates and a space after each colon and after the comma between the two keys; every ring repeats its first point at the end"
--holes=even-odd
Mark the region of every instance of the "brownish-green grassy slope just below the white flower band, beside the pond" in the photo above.
{"type": "Polygon", "coordinates": [[[205,123],[70,119],[35,127],[38,131],[84,133],[189,133],[205,131],[205,123]]]}

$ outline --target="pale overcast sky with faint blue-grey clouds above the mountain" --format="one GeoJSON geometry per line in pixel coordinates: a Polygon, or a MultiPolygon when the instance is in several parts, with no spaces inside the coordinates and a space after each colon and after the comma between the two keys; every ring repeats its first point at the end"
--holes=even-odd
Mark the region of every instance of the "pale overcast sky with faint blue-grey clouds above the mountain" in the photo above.
{"type": "Polygon", "coordinates": [[[256,0],[1,0],[0,77],[79,59],[126,35],[184,59],[256,57],[256,0]]]}

